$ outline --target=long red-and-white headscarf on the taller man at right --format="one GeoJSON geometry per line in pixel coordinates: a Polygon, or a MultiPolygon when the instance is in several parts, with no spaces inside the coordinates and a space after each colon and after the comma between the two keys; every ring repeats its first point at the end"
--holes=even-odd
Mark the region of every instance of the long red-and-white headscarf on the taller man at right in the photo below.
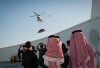
{"type": "Polygon", "coordinates": [[[71,68],[94,68],[95,52],[82,32],[75,32],[70,38],[71,68]]]}

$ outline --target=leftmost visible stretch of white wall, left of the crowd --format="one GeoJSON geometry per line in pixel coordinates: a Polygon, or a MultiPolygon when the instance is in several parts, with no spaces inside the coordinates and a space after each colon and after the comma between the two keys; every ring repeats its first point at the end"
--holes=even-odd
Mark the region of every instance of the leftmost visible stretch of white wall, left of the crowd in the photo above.
{"type": "Polygon", "coordinates": [[[18,45],[16,46],[11,46],[11,47],[6,47],[6,48],[1,48],[0,49],[0,62],[1,61],[10,61],[10,57],[12,55],[16,55],[18,51],[18,45]]]}

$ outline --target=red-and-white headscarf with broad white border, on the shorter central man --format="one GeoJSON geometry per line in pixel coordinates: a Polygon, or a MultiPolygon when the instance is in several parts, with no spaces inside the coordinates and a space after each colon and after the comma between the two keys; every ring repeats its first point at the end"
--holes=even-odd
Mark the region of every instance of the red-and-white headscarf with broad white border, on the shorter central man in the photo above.
{"type": "Polygon", "coordinates": [[[56,37],[48,38],[46,48],[47,52],[43,56],[44,64],[49,68],[61,68],[61,64],[64,63],[64,56],[60,39],[56,37]]]}

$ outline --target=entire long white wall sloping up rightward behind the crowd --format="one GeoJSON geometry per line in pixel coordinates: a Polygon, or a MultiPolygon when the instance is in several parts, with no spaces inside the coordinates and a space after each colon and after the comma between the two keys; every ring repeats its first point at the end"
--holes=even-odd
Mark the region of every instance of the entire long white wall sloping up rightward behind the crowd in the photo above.
{"type": "MultiPolygon", "coordinates": [[[[78,24],[76,26],[73,26],[69,29],[66,29],[64,31],[56,33],[56,35],[60,36],[62,42],[66,44],[66,41],[70,39],[71,32],[73,30],[76,30],[77,28],[82,29],[87,40],[89,41],[91,46],[96,50],[97,44],[94,44],[93,42],[91,42],[90,35],[92,35],[92,34],[90,34],[90,31],[92,29],[96,30],[100,36],[100,17],[96,18],[96,19],[90,19],[88,21],[85,21],[85,22],[78,24]]],[[[95,33],[93,35],[95,35],[95,33]]],[[[93,36],[92,39],[95,39],[95,37],[93,36]]],[[[33,44],[33,46],[36,47],[38,45],[38,43],[40,43],[40,42],[46,43],[46,40],[47,40],[47,37],[32,41],[32,44],[33,44]]],[[[10,56],[17,54],[18,48],[19,48],[18,45],[12,46],[12,47],[1,48],[0,49],[0,61],[9,61],[10,56]]]]}

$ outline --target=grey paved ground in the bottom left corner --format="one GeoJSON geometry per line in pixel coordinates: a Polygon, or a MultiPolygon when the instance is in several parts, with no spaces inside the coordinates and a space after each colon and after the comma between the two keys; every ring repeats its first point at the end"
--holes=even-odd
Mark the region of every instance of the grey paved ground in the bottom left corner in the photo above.
{"type": "Polygon", "coordinates": [[[16,63],[0,62],[0,68],[24,68],[24,67],[21,66],[21,62],[16,62],[16,63]]]}

